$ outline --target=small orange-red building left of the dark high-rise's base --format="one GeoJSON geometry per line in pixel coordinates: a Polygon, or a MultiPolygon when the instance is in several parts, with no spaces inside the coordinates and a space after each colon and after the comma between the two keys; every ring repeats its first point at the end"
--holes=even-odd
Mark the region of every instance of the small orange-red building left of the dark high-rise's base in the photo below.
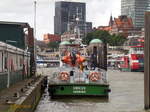
{"type": "Polygon", "coordinates": [[[56,41],[61,41],[61,38],[59,35],[55,35],[55,34],[44,34],[44,38],[43,41],[45,44],[48,44],[50,42],[56,42],[56,41]]]}

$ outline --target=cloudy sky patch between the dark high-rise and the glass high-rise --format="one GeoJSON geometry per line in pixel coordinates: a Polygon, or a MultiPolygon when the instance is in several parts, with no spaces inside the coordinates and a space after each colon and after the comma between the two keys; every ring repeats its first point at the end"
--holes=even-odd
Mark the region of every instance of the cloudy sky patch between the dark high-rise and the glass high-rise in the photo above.
{"type": "Polygon", "coordinates": [[[87,20],[92,21],[93,26],[108,25],[111,14],[114,16],[120,14],[120,0],[91,0],[87,2],[87,20]]]}

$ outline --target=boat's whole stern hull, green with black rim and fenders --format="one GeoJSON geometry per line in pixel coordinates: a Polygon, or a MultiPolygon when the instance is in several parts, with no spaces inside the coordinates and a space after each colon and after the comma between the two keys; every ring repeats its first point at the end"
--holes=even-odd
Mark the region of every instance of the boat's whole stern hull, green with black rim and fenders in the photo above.
{"type": "Polygon", "coordinates": [[[50,96],[104,96],[110,92],[108,84],[49,84],[50,96]]]}

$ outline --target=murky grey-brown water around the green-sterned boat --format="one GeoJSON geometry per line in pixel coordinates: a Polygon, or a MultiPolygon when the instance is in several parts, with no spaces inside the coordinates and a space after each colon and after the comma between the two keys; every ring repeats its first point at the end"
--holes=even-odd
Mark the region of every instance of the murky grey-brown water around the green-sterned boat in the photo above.
{"type": "Polygon", "coordinates": [[[35,112],[145,112],[143,73],[108,71],[108,75],[109,100],[91,97],[51,100],[46,90],[35,112]]]}

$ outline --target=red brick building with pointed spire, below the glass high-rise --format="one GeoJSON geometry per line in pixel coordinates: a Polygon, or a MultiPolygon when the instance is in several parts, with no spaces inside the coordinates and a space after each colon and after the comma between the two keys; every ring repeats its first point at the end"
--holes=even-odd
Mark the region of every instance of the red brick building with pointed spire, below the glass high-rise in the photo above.
{"type": "Polygon", "coordinates": [[[127,16],[114,19],[111,16],[108,26],[99,26],[97,29],[108,31],[110,34],[121,34],[124,37],[141,34],[141,29],[135,28],[132,19],[127,16]]]}

